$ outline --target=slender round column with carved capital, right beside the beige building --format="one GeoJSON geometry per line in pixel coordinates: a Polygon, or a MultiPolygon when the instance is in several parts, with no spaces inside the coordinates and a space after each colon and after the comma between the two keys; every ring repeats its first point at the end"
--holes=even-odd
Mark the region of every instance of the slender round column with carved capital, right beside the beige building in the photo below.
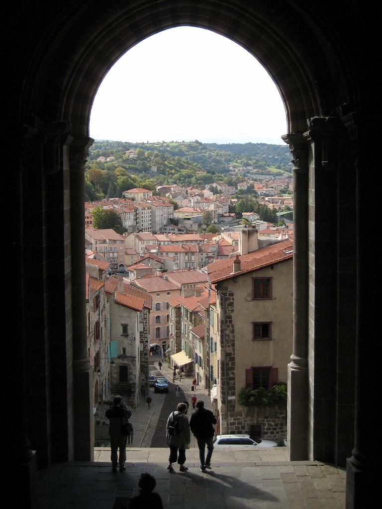
{"type": "Polygon", "coordinates": [[[291,461],[308,459],[308,145],[283,136],[293,154],[293,350],[288,364],[287,443],[291,461]]]}

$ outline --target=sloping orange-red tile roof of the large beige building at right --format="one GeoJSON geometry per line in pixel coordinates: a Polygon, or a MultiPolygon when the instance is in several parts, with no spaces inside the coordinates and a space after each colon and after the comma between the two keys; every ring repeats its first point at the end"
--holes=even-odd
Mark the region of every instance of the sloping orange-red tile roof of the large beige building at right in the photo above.
{"type": "Polygon", "coordinates": [[[208,265],[208,276],[212,283],[237,277],[246,272],[289,260],[293,257],[293,242],[285,240],[239,257],[241,270],[233,273],[233,258],[217,260],[208,265]]]}

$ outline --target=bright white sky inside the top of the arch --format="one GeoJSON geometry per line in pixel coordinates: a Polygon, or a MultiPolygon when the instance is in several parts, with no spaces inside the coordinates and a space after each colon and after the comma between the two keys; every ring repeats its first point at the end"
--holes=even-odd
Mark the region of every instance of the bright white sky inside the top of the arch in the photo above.
{"type": "Polygon", "coordinates": [[[155,34],[103,78],[90,136],[121,142],[283,145],[286,116],[275,83],[247,50],[191,26],[155,34]]]}

